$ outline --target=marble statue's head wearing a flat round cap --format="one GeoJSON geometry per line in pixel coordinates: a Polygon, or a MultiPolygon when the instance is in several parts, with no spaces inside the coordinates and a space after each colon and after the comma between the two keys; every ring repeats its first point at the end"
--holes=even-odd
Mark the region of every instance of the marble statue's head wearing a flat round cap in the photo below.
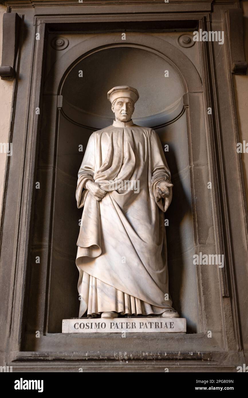
{"type": "Polygon", "coordinates": [[[115,120],[129,122],[135,109],[134,104],[139,99],[139,93],[133,87],[116,86],[109,90],[107,99],[111,102],[115,120]]]}

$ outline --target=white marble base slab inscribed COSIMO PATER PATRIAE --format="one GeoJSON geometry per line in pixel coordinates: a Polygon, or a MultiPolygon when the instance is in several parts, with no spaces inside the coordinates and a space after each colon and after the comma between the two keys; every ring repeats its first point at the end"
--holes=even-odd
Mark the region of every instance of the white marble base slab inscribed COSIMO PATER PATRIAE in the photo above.
{"type": "Polygon", "coordinates": [[[186,333],[185,318],[72,318],[63,319],[62,333],[186,333]]]}

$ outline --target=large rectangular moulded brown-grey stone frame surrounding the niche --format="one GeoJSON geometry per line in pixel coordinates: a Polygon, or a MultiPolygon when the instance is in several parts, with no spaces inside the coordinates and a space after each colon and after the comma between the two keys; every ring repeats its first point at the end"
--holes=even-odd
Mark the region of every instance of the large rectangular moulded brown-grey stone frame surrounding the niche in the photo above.
{"type": "MultiPolygon", "coordinates": [[[[229,10],[231,14],[231,10],[236,8],[239,2],[186,1],[186,5],[182,6],[182,3],[176,1],[168,4],[150,4],[146,1],[121,4],[113,1],[111,5],[100,1],[97,8],[91,1],[85,1],[80,5],[76,5],[75,2],[71,2],[71,5],[67,2],[67,5],[64,5],[62,1],[53,2],[52,5],[36,1],[32,5],[29,2],[18,4],[18,1],[13,2],[13,5],[12,2],[9,3],[9,12],[24,15],[10,128],[10,142],[18,148],[23,148],[23,151],[8,158],[6,166],[1,226],[1,264],[4,266],[4,273],[0,276],[0,344],[1,351],[4,352],[1,362],[12,365],[14,370],[36,371],[77,371],[78,367],[92,371],[145,371],[147,368],[163,371],[164,367],[169,367],[170,371],[236,371],[237,365],[245,363],[244,352],[247,351],[244,341],[247,336],[246,311],[242,306],[247,290],[247,280],[244,278],[244,275],[247,275],[248,264],[247,206],[241,157],[236,153],[236,142],[239,139],[229,54],[231,47],[225,45],[222,49],[224,58],[221,68],[218,68],[216,60],[219,47],[211,42],[202,45],[201,62],[205,107],[207,109],[211,106],[214,109],[213,114],[205,118],[205,123],[211,165],[209,172],[213,182],[211,201],[215,244],[218,252],[224,253],[227,259],[225,272],[219,275],[222,329],[217,331],[216,338],[212,339],[207,338],[206,328],[199,334],[170,335],[166,338],[143,334],[141,339],[140,336],[130,335],[128,352],[125,346],[126,339],[111,335],[110,340],[109,336],[98,334],[91,335],[90,339],[85,335],[73,336],[72,339],[72,336],[48,334],[43,336],[45,340],[42,342],[41,350],[22,351],[22,346],[25,327],[25,278],[32,233],[30,221],[34,200],[33,178],[40,125],[40,117],[35,115],[34,109],[41,99],[43,49],[47,26],[73,25],[89,21],[90,17],[90,21],[98,23],[123,20],[168,21],[170,26],[176,26],[176,29],[183,31],[188,29],[189,21],[194,21],[203,30],[225,30],[225,41],[228,43],[232,34],[230,30],[227,33],[225,11],[229,10]],[[35,33],[40,33],[39,41],[35,41],[35,33]],[[26,114],[23,112],[23,99],[27,100],[26,114]],[[235,212],[232,209],[235,209],[235,212]],[[14,248],[11,251],[10,242],[14,248]],[[148,343],[151,349],[147,352],[148,343]],[[67,349],[58,353],[61,345],[67,349]],[[180,347],[184,347],[183,350],[180,347]]],[[[193,90],[184,96],[189,116],[187,120],[190,120],[189,137],[197,133],[192,127],[197,127],[198,123],[197,115],[191,106],[191,103],[195,104],[194,99],[193,90]]],[[[57,102],[57,98],[55,100],[57,102]]],[[[197,172],[193,171],[193,167],[191,173],[191,181],[200,193],[196,183],[199,177],[197,172]]],[[[197,213],[200,210],[195,211],[197,213]]],[[[203,243],[200,227],[195,220],[195,237],[200,237],[196,242],[199,250],[203,243]]],[[[207,283],[204,275],[199,277],[199,281],[203,285],[207,283]]],[[[208,314],[209,318],[211,316],[213,312],[208,314]]],[[[205,326],[208,326],[207,322],[205,326]]]]}

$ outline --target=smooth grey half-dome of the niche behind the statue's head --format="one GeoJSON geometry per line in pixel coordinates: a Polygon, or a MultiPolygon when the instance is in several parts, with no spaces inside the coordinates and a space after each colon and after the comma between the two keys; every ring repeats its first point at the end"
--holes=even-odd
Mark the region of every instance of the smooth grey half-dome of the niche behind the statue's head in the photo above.
{"type": "Polygon", "coordinates": [[[63,109],[66,113],[72,109],[72,119],[81,118],[82,123],[85,117],[92,117],[95,125],[99,118],[113,119],[107,92],[122,85],[139,92],[133,119],[146,120],[158,114],[168,119],[170,113],[175,116],[176,108],[181,111],[184,88],[172,66],[150,51],[124,46],[97,51],[72,68],[62,88],[63,109]],[[78,77],[79,70],[83,77],[78,77]],[[164,76],[165,70],[169,77],[164,76]]]}

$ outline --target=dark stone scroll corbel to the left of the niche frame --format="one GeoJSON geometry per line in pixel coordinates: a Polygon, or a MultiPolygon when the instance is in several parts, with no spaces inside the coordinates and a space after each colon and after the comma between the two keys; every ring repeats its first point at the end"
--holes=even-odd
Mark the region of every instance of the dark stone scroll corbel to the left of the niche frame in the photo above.
{"type": "Polygon", "coordinates": [[[16,55],[20,43],[21,18],[16,12],[4,14],[2,39],[2,66],[1,79],[15,77],[16,55]]]}

